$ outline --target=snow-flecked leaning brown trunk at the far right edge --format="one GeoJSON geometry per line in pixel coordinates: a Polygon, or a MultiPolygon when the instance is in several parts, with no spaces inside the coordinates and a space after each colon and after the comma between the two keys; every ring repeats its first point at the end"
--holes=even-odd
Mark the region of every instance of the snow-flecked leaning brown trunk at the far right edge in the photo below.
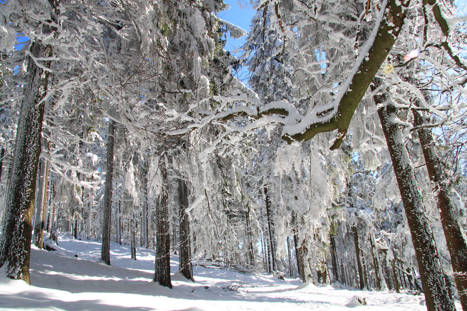
{"type": "MultiPolygon", "coordinates": [[[[419,111],[414,111],[413,115],[416,126],[425,123],[419,111]]],[[[435,191],[438,191],[436,206],[439,209],[441,225],[443,226],[447,248],[451,256],[451,265],[453,266],[460,304],[462,310],[467,311],[467,242],[457,219],[456,207],[449,189],[449,180],[447,180],[446,174],[443,172],[436,153],[432,131],[425,127],[418,129],[417,133],[422,145],[428,175],[434,183],[435,191]]]]}

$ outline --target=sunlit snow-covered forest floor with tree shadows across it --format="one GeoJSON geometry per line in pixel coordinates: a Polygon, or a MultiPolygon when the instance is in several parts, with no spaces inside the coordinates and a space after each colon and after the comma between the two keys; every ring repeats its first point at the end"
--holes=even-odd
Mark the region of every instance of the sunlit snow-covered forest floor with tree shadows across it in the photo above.
{"type": "MultiPolygon", "coordinates": [[[[169,289],[152,282],[154,252],[138,248],[136,261],[128,245],[111,244],[111,266],[99,262],[100,242],[59,238],[59,249],[31,250],[31,283],[0,278],[0,310],[66,311],[280,311],[348,310],[354,295],[366,297],[359,310],[426,310],[423,296],[343,290],[330,285],[302,284],[272,276],[194,267],[195,281],[177,272],[171,257],[169,289]],[[78,255],[78,258],[75,257],[78,255]],[[233,282],[234,281],[234,282],[233,282]],[[228,285],[244,284],[235,292],[228,285]]],[[[55,246],[57,248],[57,246],[55,246]]],[[[460,304],[456,302],[458,310],[460,304]]]]}

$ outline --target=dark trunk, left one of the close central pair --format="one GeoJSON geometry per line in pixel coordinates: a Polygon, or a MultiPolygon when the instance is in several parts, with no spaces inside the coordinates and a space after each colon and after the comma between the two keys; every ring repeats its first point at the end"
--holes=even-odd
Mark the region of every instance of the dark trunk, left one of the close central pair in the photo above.
{"type": "Polygon", "coordinates": [[[162,176],[162,191],[156,206],[156,262],[154,269],[154,281],[162,286],[172,288],[170,281],[170,231],[169,231],[169,206],[167,168],[164,159],[159,162],[162,176]]]}

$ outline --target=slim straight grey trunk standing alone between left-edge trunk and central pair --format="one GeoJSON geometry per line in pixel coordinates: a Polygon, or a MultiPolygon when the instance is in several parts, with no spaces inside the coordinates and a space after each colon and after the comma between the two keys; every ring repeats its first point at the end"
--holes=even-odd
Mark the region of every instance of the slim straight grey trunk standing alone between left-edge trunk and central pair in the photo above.
{"type": "Polygon", "coordinates": [[[104,186],[104,201],[102,202],[102,248],[100,251],[100,260],[110,265],[110,221],[112,198],[112,177],[113,177],[113,134],[115,131],[115,121],[109,121],[109,133],[107,142],[107,165],[106,165],[106,184],[104,186]]]}

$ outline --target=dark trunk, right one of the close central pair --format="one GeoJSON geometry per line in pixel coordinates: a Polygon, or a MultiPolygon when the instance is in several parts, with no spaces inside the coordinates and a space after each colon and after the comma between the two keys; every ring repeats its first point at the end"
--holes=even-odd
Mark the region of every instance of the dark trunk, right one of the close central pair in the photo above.
{"type": "Polygon", "coordinates": [[[180,272],[184,277],[194,282],[193,266],[191,265],[190,221],[185,209],[190,206],[188,201],[188,186],[186,181],[178,179],[178,217],[180,219],[180,272]]]}

